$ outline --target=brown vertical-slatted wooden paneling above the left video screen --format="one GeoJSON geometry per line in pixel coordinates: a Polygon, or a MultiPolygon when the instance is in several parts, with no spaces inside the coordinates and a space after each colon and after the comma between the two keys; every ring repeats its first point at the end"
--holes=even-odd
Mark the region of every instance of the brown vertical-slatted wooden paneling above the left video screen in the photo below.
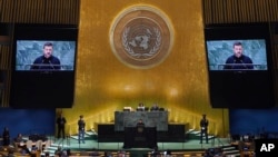
{"type": "Polygon", "coordinates": [[[80,0],[0,0],[0,22],[78,24],[80,0]]]}

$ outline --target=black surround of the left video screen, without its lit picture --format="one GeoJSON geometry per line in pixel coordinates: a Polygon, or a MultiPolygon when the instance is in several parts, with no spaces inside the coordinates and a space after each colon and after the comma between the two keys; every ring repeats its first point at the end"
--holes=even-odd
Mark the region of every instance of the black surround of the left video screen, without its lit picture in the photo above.
{"type": "Polygon", "coordinates": [[[13,28],[10,107],[71,108],[75,101],[78,26],[17,23],[13,28]],[[76,41],[73,70],[16,70],[18,40],[76,41]]]}

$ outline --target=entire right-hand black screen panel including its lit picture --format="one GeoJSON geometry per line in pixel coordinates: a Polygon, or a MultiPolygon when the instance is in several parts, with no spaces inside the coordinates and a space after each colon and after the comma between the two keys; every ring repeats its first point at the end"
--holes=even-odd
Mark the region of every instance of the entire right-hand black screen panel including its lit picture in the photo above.
{"type": "Polygon", "coordinates": [[[214,108],[275,106],[268,23],[208,24],[205,46],[214,108]]]}

